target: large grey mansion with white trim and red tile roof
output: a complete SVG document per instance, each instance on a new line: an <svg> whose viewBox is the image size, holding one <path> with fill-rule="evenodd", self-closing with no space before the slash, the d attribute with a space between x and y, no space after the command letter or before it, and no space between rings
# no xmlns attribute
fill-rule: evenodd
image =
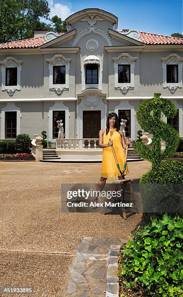
<svg viewBox="0 0 183 297"><path fill-rule="evenodd" d="M36 31L34 38L0 44L0 139L47 132L58 138L98 138L106 115L126 119L135 140L136 109L161 93L178 108L173 120L183 137L183 38L118 31L118 19L84 9L66 19L67 33Z"/></svg>

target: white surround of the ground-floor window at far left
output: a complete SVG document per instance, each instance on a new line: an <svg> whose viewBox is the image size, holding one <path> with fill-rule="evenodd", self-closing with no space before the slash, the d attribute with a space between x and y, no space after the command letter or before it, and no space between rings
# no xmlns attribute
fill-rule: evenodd
<svg viewBox="0 0 183 297"><path fill-rule="evenodd" d="M1 110L1 139L5 139L5 112L17 112L17 135L20 134L20 108L15 105L15 103L7 103L5 107ZM13 138L12 138L13 139Z"/></svg>

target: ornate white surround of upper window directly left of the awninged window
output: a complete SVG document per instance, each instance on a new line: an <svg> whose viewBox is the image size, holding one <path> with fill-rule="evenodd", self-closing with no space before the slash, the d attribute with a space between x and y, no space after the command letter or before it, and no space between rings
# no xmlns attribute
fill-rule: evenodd
<svg viewBox="0 0 183 297"><path fill-rule="evenodd" d="M47 59L49 63L49 88L56 92L57 95L61 95L65 89L69 89L69 68L71 59L67 59L63 55L55 55L51 59ZM53 66L66 66L66 83L54 84L53 83Z"/></svg>

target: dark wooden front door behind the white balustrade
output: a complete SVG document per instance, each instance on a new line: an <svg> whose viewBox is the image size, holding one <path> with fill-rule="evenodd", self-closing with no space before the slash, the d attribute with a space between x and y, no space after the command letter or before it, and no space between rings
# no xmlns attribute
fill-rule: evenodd
<svg viewBox="0 0 183 297"><path fill-rule="evenodd" d="M100 129L101 111L83 111L83 138L99 138ZM85 143L85 147L87 146L87 143ZM90 143L90 145L93 147L94 142Z"/></svg>

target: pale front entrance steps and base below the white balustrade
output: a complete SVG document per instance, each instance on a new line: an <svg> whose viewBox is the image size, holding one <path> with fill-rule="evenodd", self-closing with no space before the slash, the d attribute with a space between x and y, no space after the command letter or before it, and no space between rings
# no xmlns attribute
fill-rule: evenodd
<svg viewBox="0 0 183 297"><path fill-rule="evenodd" d="M43 160L40 162L101 162L102 149L43 149ZM128 149L127 162L143 161L135 154L134 148Z"/></svg>

